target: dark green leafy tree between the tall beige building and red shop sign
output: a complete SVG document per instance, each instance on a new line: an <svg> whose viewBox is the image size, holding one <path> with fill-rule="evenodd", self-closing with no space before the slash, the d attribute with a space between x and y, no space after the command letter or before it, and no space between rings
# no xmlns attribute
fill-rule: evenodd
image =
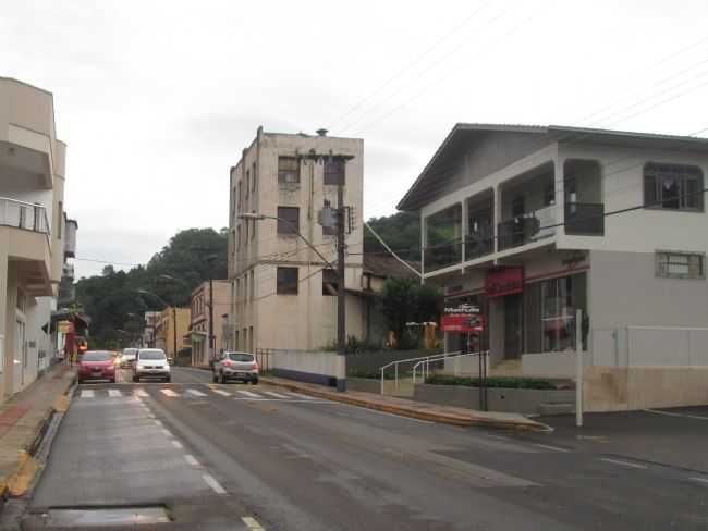
<svg viewBox="0 0 708 531"><path fill-rule="evenodd" d="M410 348L416 343L406 323L438 321L442 300L439 288L422 286L412 279L386 281L379 305L399 348Z"/></svg>

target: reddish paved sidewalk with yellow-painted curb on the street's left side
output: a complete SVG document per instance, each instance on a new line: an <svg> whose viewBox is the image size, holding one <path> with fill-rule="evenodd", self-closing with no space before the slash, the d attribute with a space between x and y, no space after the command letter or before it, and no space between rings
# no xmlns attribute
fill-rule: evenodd
<svg viewBox="0 0 708 531"><path fill-rule="evenodd" d="M32 455L54 410L68 406L75 372L59 363L0 406L0 497L19 496L29 485Z"/></svg>

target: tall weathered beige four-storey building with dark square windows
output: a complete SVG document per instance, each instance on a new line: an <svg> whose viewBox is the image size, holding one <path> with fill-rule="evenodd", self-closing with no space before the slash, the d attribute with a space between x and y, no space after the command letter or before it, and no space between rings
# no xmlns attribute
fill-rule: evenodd
<svg viewBox="0 0 708 531"><path fill-rule="evenodd" d="M361 291L363 156L361 139L258 128L230 172L229 329L233 337L225 342L248 351L312 350L334 342L337 273L293 227L333 262L334 231L318 223L318 213L327 203L338 207L338 185L343 183L344 205L351 207L353 220L346 234L345 288ZM245 212L281 220L240 219ZM347 335L366 335L364 308L361 297L346 297Z"/></svg>

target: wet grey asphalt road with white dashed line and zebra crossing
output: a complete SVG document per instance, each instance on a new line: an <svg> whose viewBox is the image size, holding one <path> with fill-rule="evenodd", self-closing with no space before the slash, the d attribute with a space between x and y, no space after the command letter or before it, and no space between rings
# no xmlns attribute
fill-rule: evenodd
<svg viewBox="0 0 708 531"><path fill-rule="evenodd" d="M155 506L171 519L155 529L703 530L707 499L691 470L175 368L171 384L78 386L25 529Z"/></svg>

